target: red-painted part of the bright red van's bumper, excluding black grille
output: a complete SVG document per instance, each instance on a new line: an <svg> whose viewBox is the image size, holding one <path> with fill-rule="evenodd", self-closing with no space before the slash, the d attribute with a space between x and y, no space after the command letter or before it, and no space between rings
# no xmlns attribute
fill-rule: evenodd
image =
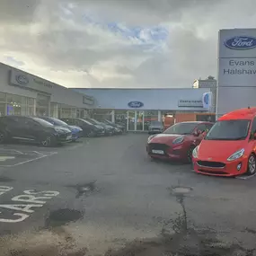
<svg viewBox="0 0 256 256"><path fill-rule="evenodd" d="M224 167L212 167L204 166L199 164L199 159L193 159L194 171L199 174L209 175L209 176L222 176L222 177L234 177L239 176L247 172L247 157L243 157L232 162L225 162ZM240 170L238 166L241 164Z"/></svg>

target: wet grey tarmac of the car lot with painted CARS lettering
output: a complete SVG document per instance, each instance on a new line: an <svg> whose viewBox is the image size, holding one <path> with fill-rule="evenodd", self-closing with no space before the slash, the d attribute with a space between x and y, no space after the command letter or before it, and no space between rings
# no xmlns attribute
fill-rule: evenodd
<svg viewBox="0 0 256 256"><path fill-rule="evenodd" d="M0 255L256 255L256 179L152 161L146 138L0 146Z"/></svg>

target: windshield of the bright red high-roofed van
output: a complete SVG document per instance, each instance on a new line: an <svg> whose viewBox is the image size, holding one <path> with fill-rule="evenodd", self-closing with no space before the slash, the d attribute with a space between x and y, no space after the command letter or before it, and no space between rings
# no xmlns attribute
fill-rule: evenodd
<svg viewBox="0 0 256 256"><path fill-rule="evenodd" d="M217 121L207 133L207 140L239 140L248 135L250 120Z"/></svg>

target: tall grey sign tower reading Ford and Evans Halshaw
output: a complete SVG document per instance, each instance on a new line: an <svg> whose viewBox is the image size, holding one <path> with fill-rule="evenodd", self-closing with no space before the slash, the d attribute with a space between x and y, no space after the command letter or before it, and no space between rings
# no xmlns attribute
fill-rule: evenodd
<svg viewBox="0 0 256 256"><path fill-rule="evenodd" d="M256 93L256 29L219 31L217 81L217 116L256 104L247 90Z"/></svg>

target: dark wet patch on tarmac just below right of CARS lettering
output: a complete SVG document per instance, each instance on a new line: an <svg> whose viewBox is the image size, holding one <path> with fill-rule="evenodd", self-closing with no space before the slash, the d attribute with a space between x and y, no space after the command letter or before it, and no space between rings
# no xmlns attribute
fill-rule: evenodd
<svg viewBox="0 0 256 256"><path fill-rule="evenodd" d="M57 209L49 213L49 217L45 221L45 227L55 227L66 225L67 223L77 221L83 218L84 213L75 209Z"/></svg>

